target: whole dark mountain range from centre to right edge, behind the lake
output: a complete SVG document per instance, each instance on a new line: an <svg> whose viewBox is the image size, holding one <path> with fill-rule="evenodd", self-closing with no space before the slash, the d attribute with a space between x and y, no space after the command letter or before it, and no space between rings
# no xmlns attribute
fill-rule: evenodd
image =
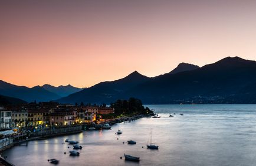
<svg viewBox="0 0 256 166"><path fill-rule="evenodd" d="M57 101L110 103L136 97L145 104L256 103L255 87L256 62L226 57L203 67L181 63L172 72L152 78L133 72Z"/></svg>

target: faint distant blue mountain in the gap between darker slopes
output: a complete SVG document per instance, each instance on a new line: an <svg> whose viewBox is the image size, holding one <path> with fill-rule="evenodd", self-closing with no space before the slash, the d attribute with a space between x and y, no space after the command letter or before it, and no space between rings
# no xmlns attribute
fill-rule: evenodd
<svg viewBox="0 0 256 166"><path fill-rule="evenodd" d="M71 86L70 84L68 84L67 86L61 85L58 87L51 86L50 84L44 84L42 87L44 89L48 90L49 92L58 94L58 96L61 96L61 97L68 96L72 93L76 93L76 92L79 92L84 89L84 88L78 88L78 87Z"/></svg>

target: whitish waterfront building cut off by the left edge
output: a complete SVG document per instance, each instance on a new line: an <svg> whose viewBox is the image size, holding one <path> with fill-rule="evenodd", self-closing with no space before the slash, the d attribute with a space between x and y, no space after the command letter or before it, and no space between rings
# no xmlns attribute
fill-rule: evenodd
<svg viewBox="0 0 256 166"><path fill-rule="evenodd" d="M0 129L11 128L12 124L12 111L0 107Z"/></svg>

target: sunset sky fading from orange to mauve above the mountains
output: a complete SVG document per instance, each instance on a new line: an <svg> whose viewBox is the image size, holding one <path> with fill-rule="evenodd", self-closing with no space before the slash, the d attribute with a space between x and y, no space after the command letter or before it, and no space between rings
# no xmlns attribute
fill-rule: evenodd
<svg viewBox="0 0 256 166"><path fill-rule="evenodd" d="M256 60L256 1L0 1L0 80L90 87Z"/></svg>

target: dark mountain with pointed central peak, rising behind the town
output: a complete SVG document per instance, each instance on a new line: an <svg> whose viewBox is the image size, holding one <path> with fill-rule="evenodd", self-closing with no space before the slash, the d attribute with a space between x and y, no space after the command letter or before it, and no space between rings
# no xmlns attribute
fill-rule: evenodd
<svg viewBox="0 0 256 166"><path fill-rule="evenodd" d="M109 103L116 100L120 93L145 83L147 80L150 78L135 71L123 79L101 82L57 101L60 103L80 103L82 101L84 103Z"/></svg>

